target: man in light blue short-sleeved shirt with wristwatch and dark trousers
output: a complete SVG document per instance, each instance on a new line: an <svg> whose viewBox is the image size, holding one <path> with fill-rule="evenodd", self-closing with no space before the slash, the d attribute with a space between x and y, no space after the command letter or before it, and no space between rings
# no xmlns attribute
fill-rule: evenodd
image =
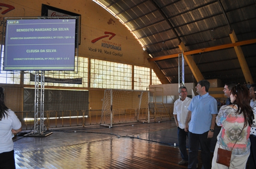
<svg viewBox="0 0 256 169"><path fill-rule="evenodd" d="M210 144L218 111L216 99L208 93L209 87L207 80L199 81L196 86L199 95L192 99L188 108L185 131L189 132L189 169L196 168L199 144L204 169L211 169Z"/></svg>

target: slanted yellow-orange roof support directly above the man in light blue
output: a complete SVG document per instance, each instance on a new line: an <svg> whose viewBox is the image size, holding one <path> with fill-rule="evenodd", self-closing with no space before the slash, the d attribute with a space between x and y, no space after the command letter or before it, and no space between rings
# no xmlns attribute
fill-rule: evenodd
<svg viewBox="0 0 256 169"><path fill-rule="evenodd" d="M180 42L179 44L180 51L187 51L186 46L183 42ZM195 79L197 82L200 80L204 80L204 76L202 75L201 71L198 69L197 65L195 64L195 61L193 60L191 55L185 55L185 52L183 53L184 59L186 59L187 64L189 65L190 70L192 71Z"/></svg>

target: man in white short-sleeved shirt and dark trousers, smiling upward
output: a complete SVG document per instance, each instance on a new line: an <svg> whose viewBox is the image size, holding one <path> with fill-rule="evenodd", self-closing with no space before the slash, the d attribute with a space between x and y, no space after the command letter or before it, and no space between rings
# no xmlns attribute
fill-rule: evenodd
<svg viewBox="0 0 256 169"><path fill-rule="evenodd" d="M180 148L180 155L182 161L179 162L180 165L187 164L189 157L186 150L186 138L188 137L188 132L185 132L185 121L188 113L188 107L192 99L187 97L187 89L185 86L179 87L179 96L180 99L177 99L174 103L173 115L175 123L178 127L178 143Z"/></svg>

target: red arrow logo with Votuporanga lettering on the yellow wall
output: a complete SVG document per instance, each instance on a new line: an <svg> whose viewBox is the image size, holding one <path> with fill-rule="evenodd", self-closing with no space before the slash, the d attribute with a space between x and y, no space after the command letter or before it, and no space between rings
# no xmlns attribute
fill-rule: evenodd
<svg viewBox="0 0 256 169"><path fill-rule="evenodd" d="M100 39L102 39L102 44L101 45L102 45L103 48L109 48L109 49L114 49L114 50L117 50L117 51L122 51L121 44L115 43L115 42L110 42L110 41L107 41L107 40L103 40L103 38L106 38L106 37L109 37L108 40L111 40L113 37L116 36L116 34L114 34L112 32L104 32L104 34L105 34L105 36L93 39L91 42L95 43L95 42L99 41Z"/></svg>

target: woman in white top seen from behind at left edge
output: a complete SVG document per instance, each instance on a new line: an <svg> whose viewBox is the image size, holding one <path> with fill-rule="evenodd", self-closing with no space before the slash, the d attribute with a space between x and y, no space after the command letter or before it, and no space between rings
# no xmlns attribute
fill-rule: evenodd
<svg viewBox="0 0 256 169"><path fill-rule="evenodd" d="M15 169L13 134L20 132L21 123L4 103L4 89L0 87L0 169Z"/></svg>

